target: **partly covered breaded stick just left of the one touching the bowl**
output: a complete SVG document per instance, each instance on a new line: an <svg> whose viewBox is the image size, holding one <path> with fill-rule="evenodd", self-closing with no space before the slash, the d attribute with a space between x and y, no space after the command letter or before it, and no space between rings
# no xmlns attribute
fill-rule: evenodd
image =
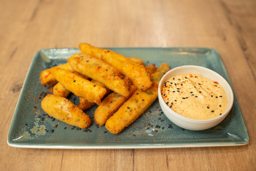
<svg viewBox="0 0 256 171"><path fill-rule="evenodd" d="M104 125L108 118L112 116L119 108L128 100L136 87L134 85L130 86L129 96L122 96L116 92L110 93L97 107L94 112L94 121L99 125Z"/></svg>

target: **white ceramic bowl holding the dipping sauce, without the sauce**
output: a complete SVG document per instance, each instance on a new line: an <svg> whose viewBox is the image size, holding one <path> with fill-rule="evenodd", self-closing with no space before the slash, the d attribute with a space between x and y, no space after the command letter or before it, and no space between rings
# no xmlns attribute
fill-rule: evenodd
<svg viewBox="0 0 256 171"><path fill-rule="evenodd" d="M164 102L163 97L161 95L161 90L163 87L163 84L170 79L171 77L179 74L186 74L186 73L196 73L200 74L204 77L210 78L211 80L217 81L225 90L227 97L228 97L228 107L227 110L220 116L212 119L205 119L205 120L199 120L199 119L191 119L184 117L176 112L174 112L168 105ZM158 85L158 99L160 106L164 112L164 114L167 116L168 119L170 119L174 124L189 130L205 130L212 128L216 125L218 125L221 121L223 121L228 113L230 112L233 101L234 101L234 95L233 91L228 84L228 82L218 73L216 73L213 70L210 70L205 67L201 66L195 66L195 65L184 65L179 66L177 68L173 68L170 71L168 71L160 80Z"/></svg>

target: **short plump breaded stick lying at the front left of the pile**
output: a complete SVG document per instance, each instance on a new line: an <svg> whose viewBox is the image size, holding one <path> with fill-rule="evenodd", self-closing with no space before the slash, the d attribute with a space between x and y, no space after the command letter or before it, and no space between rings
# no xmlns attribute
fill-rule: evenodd
<svg viewBox="0 0 256 171"><path fill-rule="evenodd" d="M47 95L41 102L42 109L49 115L79 128L91 125L91 119L81 109L64 97Z"/></svg>

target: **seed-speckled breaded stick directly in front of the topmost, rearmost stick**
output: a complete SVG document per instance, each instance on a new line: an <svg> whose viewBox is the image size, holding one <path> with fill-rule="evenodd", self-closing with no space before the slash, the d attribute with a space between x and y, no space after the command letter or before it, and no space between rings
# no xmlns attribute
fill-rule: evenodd
<svg viewBox="0 0 256 171"><path fill-rule="evenodd" d="M102 60L77 53L68 59L68 63L75 71L103 83L114 92L123 96L129 95L128 78Z"/></svg>

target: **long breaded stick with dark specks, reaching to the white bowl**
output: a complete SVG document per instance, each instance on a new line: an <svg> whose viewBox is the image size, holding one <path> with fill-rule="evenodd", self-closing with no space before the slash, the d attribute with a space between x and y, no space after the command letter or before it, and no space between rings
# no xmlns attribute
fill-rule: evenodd
<svg viewBox="0 0 256 171"><path fill-rule="evenodd" d="M107 120L105 127L109 132L112 134L121 132L154 103L158 97L158 83L168 70L170 70L169 66L162 64L160 68L151 75L152 86L145 91L136 90L131 98Z"/></svg>

